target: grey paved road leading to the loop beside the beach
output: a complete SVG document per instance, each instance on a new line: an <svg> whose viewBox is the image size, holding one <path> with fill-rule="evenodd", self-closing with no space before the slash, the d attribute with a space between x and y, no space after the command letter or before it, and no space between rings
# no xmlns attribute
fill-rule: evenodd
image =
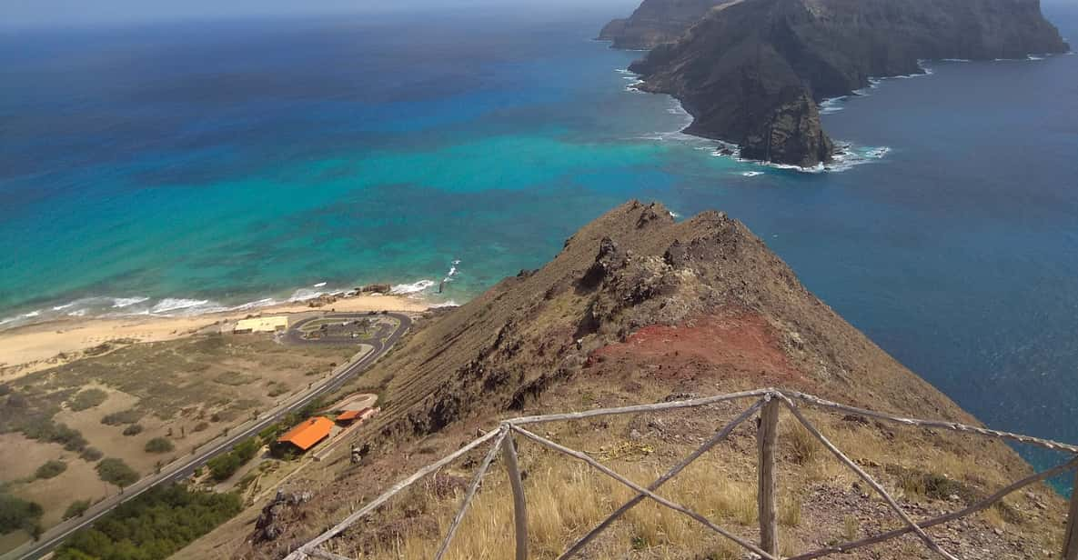
<svg viewBox="0 0 1078 560"><path fill-rule="evenodd" d="M359 319L361 317L370 317L367 313L326 313L324 317L330 317L333 319ZM189 456L188 458L180 459L177 462L165 466L161 474L152 475L142 478L138 482L124 489L123 494L118 494L109 496L102 502L91 507L85 515L82 517L77 517L68 521L64 521L60 524L50 529L37 543L27 543L18 548L0 556L2 560L13 560L13 559L37 559L45 556L54 548L60 545L71 533L88 527L91 523L96 521L98 518L108 514L118 505L127 502L128 500L135 499L135 496L146 492L147 490L161 485L180 480L186 478L194 473L195 468L204 465L206 461L209 461L213 457L231 450L236 444L251 437L262 430L264 430L270 424L276 422L280 418L285 417L289 412L299 410L303 408L307 403L322 396L327 393L331 393L341 388L346 381L351 379L356 374L367 369L371 364L382 358L387 350L392 348L395 344L404 333L407 332L412 326L412 319L402 313L386 313L379 317L392 317L397 319L399 325L391 333L385 333L389 331L390 326L379 327L378 333L369 340L362 340L363 344L374 347L371 352L364 353L358 360L349 362L336 370L333 372L328 379L322 381L320 384L315 386L309 391L304 394L293 397L291 401L280 405L279 407L265 412L264 415L258 417L253 421L248 421L237 428L232 429L229 435L219 437L212 442L205 444L198 451L197 454ZM295 332L296 326L302 326L303 323L314 320L317 318L306 319L298 322L292 326L286 334L286 336L291 337L291 334ZM385 336L382 336L385 335ZM300 338L296 335L296 338ZM300 338L302 344L316 344L310 340L305 340ZM334 342L329 342L334 344ZM355 341L353 341L355 344Z"/></svg>

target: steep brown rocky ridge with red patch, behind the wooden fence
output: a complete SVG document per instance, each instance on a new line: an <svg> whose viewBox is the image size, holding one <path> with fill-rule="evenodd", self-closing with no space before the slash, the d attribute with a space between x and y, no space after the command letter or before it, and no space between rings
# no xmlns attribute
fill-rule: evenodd
<svg viewBox="0 0 1078 560"><path fill-rule="evenodd" d="M661 205L637 201L583 227L539 270L522 271L431 319L358 383L384 395L383 412L364 425L357 440L367 453L363 464L349 464L346 453L315 463L290 481L296 491L317 489L315 499L274 506L266 509L272 518L259 522L260 528L275 527L272 537L237 523L204 549L236 558L279 558L357 503L509 415L782 387L877 410L976 422L813 296L742 223L718 212L675 222ZM734 412L730 405L543 430L642 478L687 453ZM924 515L969 503L1028 472L1000 444L902 431L859 417L819 421L875 476L906 489L908 507L921 508ZM751 510L745 500L755 499L754 431L752 425L740 430L721 453L708 459L708 471L695 475L699 484L686 487L696 488L695 499L748 532L751 517L736 512ZM888 527L885 507L852 484L848 473L828 466L826 453L812 450L796 431L784 431L782 440L788 468L784 492L796 504L796 515L789 515L784 529L791 546L839 538L833 535L851 532L852 518L866 531ZM357 526L335 540L334 551L373 555L364 558L430 557L430 547L453 514L454 492L478 459L466 460L465 471L445 471L402 496L399 505ZM565 460L534 448L522 460L531 495L561 496L530 506L534 522L540 523L536 538L549 548L543 555L564 547L582 526L597 521L623 499L598 479L565 471L571 466ZM484 482L485 495L503 489L497 475ZM502 552L511 550L507 514L498 509L505 501L490 500L476 506L478 520L472 522L480 524L462 531L466 548L456 558L503 558ZM558 505L564 501L594 508L569 516L571 508ZM743 506L715 509L720 502ZM1013 524L1007 526L1007 533L993 530L996 521L977 519L943 528L940 534L955 550L989 551L992 558L1028 558L1029 550L1054 548L1064 509L1058 496L1038 488L1008 507L1007 522ZM637 533L612 533L597 545L603 552L588 557L609 558L625 547L644 550L637 544L645 542L659 548L634 558L728 558L715 552L720 545L711 537L675 531L668 524L673 521L647 517L646 512L621 530ZM639 536L651 534L649 528L658 531L655 523L666 523L661 535ZM866 551L872 556L853 558L915 558L910 549L916 545L876 548Z"/></svg>

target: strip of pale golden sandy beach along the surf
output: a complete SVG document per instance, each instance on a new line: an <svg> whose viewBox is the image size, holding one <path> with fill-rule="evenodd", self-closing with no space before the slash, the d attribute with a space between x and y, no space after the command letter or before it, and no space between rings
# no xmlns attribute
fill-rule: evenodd
<svg viewBox="0 0 1078 560"><path fill-rule="evenodd" d="M224 311L189 317L133 316L115 319L65 319L0 331L0 381L60 365L87 355L105 342L156 342L191 336L215 324L246 317L267 317L310 311L421 312L429 304L393 295L357 295L309 307L304 302L258 310ZM114 346L114 345L113 345Z"/></svg>

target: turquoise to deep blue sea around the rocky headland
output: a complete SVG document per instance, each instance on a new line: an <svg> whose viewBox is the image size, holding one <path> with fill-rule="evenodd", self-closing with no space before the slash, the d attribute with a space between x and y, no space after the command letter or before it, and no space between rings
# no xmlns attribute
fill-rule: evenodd
<svg viewBox="0 0 1078 560"><path fill-rule="evenodd" d="M744 221L990 425L1078 442L1078 56L927 62L828 111L861 165L784 171L626 89L640 53L591 38L632 3L0 31L0 328L460 303L659 199Z"/></svg>

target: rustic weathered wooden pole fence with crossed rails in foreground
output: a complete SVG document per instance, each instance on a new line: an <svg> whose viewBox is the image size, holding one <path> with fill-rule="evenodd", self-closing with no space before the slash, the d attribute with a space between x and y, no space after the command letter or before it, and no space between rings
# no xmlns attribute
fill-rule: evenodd
<svg viewBox="0 0 1078 560"><path fill-rule="evenodd" d="M700 406L706 406L715 403L737 401L737 400L754 400L752 404L735 417L728 424L722 426L718 432L715 433L708 440L704 442L703 445L693 450L688 457L686 457L681 462L672 467L669 471L664 473L653 482L647 487L641 487L632 480L625 478L624 476L616 473L606 465L599 463L595 459L591 458L586 453L581 451L570 449L568 447L562 446L554 443L545 437L537 435L528 431L525 426L530 424L540 424L545 422L565 421L565 420L580 420L584 418L595 418L602 416L614 416L614 415L628 415L637 412L655 412L662 410L675 410L680 408L693 408ZM931 428L939 430L950 430L953 432L976 435L992 439L1004 439L1008 442L1015 442L1025 445L1032 445L1040 447L1044 449L1050 449L1053 451L1062 451L1069 454L1069 458L1062 464L1048 468L1046 471L1035 473L1021 480L1014 481L1011 485L1001 488L996 493L979 501L973 504L968 505L964 509L952 512L950 514L941 515L931 519L924 519L921 521L915 521L913 518L899 506L898 502L887 492L887 490L880 485L869 473L865 472L860 466L857 465L853 460L846 457L830 439L827 438L801 411L802 406L810 406L816 408L823 408L825 410L843 412L843 414L854 414L868 418L874 418L877 420L895 422L903 425L918 426L918 428ZM715 533L736 543L742 548L755 554L757 557L764 560L780 560L784 559L778 551L778 523L776 521L775 514L775 503L776 503L776 481L775 481L775 448L778 438L778 417L782 409L788 410L797 421L808 431L812 436L818 440L831 454L833 454L843 465L853 471L861 480L863 480L869 487L871 487L880 498L887 503L888 507L894 512L894 514L903 522L904 527L900 529L895 529L876 535L872 535L859 541L851 541L846 543L841 543L837 545L830 545L818 550L812 550L808 552L799 554L793 557L785 557L785 560L812 560L815 558L821 558L830 555L848 552L851 550L870 546L873 544L883 543L890 541L893 538L898 538L908 533L915 534L921 542L937 556L945 558L949 560L957 560L957 557L953 554L944 550L939 543L937 543L925 530L953 521L955 519L960 519L978 512L981 512L992 505L996 504L1004 496L1021 490L1029 485L1047 480L1054 476L1059 476L1068 471L1078 470L1078 446L1073 446L1068 444L1063 444L1060 442L1053 442L1051 439L1044 439L1039 437L1026 436L1021 434L1013 434L1010 432L1000 432L996 430L989 430L984 428L978 428L972 425L960 424L956 422L945 422L939 420L920 420L914 418L903 418L894 415L887 415L883 412L877 412L874 410L868 410L863 408L858 408L854 406L843 405L840 403L833 403L831 401L826 401L817 396L799 393L797 391L780 391L777 389L760 389L756 391L744 391L740 393L730 393L723 395L715 395L704 398L693 398L689 401L676 401L671 403L655 403L647 405L634 405L624 406L618 408L602 408L595 410L585 410L581 412L567 412L567 414L556 414L556 415L543 415L543 416L528 416L521 418L513 418L502 421L497 430L493 430L481 437L468 443L462 446L457 451L446 456L445 458L431 463L419 471L417 471L412 476L405 478L393 485L389 490L387 490L382 495L375 498L365 506L360 508L358 512L349 515L340 523L334 526L329 531L318 535L314 540L307 542L303 546L295 549L290 554L286 560L306 560L308 558L326 559L326 560L346 560L347 557L337 555L326 550L323 545L330 540L338 536L350 526L362 519L364 516L371 514L383 504L385 504L389 499L391 499L397 493L401 492L405 488L409 488L421 478L434 473L441 467L450 464L451 462L459 459L464 454L476 449L489 442L489 449L480 463L479 468L473 475L467 491L460 503L460 508L457 510L456 516L453 518L453 522L450 524L448 530L438 548L438 552L434 556L434 560L442 560L446 552L450 550L450 545L453 542L453 537L456 535L457 530L460 527L460 522L464 520L465 515L468 513L468 508L471 505L472 499L475 496L475 492L483 481L483 477L486 475L490 465L494 463L495 458L500 452L503 458L507 473L509 475L510 488L513 493L513 518L514 518L514 534L515 534L515 559L516 560L527 560L528 558L528 528L527 528L527 501L524 492L524 486L521 482L521 473L517 465L517 454L515 438L517 436L528 439L537 445L552 449L559 453L563 453L569 458L581 461L591 467L599 471L600 473L609 476L613 480L622 484L634 492L636 495L621 505L618 509L611 513L606 519L599 522L594 529L585 533L583 536L578 538L564 554L558 557L558 560L568 560L575 557L581 550L588 546L596 536L598 536L603 531L608 529L616 520L623 516L626 512L632 509L634 506L642 502L644 500L652 500L653 502L668 507L675 512L678 512L689 518L695 520L705 528L714 531ZM700 459L708 450L714 448L719 443L723 442L738 425L743 424L748 419L752 418L759 414L759 430L757 431L757 443L758 443L758 495L757 505L759 508L759 522L760 522L760 541L759 544L749 542L744 537L737 536L736 534L715 524L713 521L707 519L705 516L689 509L688 507L673 502L668 499L663 498L655 493L664 484L680 474L686 467L692 464L693 461ZM1078 486L1078 485L1076 485ZM1064 534L1064 543L1061 558L1063 560L1078 560L1078 488L1072 493L1070 507L1066 521L1066 532Z"/></svg>

